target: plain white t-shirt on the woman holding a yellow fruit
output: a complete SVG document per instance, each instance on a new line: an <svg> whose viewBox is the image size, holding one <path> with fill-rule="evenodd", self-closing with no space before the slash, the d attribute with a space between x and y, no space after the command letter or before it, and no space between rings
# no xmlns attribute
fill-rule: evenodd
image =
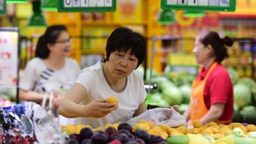
<svg viewBox="0 0 256 144"><path fill-rule="evenodd" d="M139 70L134 70L127 77L126 86L123 91L115 91L106 81L103 74L102 63L84 68L75 83L82 84L88 93L81 105L95 99L106 99L110 95L114 95L118 99L118 109L112 111L103 118L77 117L75 124L89 124L92 127L104 126L107 123L126 122L132 118L135 110L139 108L140 103L146 99L146 90L143 84L142 75ZM86 113L86 109L84 109Z"/></svg>

